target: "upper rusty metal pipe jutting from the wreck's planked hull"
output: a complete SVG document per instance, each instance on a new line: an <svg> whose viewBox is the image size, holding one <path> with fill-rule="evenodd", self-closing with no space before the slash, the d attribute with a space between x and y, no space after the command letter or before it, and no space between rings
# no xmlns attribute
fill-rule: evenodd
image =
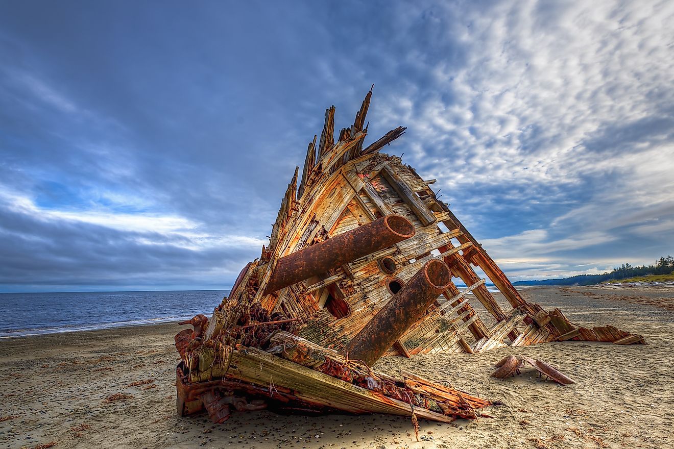
<svg viewBox="0 0 674 449"><path fill-rule="evenodd" d="M408 219L396 214L386 215L278 259L264 294L326 273L414 235L415 227Z"/></svg>

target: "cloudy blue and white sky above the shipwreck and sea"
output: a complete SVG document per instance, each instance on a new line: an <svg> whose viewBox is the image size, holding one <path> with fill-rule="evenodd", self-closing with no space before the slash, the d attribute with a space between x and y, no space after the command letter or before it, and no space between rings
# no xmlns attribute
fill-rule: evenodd
<svg viewBox="0 0 674 449"><path fill-rule="evenodd" d="M226 289L334 104L511 280L674 254L674 2L4 1L0 291Z"/></svg>

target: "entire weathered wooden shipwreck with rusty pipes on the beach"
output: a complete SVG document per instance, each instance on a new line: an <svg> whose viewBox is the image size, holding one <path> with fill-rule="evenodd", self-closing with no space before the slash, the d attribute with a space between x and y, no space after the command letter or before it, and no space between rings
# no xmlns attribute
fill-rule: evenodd
<svg viewBox="0 0 674 449"><path fill-rule="evenodd" d="M182 323L193 329L175 337L179 415L206 409L222 422L235 410L270 409L470 419L494 403L371 366L383 356L479 354L551 341L644 343L613 326L578 326L559 309L524 300L439 201L435 180L381 153L405 128L364 145L371 96L336 140L335 108L326 110L268 246L210 319Z"/></svg>

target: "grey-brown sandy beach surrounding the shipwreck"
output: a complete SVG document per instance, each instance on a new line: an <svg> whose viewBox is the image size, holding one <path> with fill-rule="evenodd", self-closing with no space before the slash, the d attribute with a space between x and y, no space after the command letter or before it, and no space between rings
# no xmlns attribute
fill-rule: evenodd
<svg viewBox="0 0 674 449"><path fill-rule="evenodd" d="M528 300L570 320L644 335L628 347L564 342L483 355L387 357L401 368L505 403L492 418L452 425L383 415L235 413L222 425L175 415L177 324L0 340L0 448L671 448L674 287L524 287ZM501 298L502 300L502 298ZM558 386L531 370L489 378L518 353L578 383ZM53 446L49 446L53 444Z"/></svg>

